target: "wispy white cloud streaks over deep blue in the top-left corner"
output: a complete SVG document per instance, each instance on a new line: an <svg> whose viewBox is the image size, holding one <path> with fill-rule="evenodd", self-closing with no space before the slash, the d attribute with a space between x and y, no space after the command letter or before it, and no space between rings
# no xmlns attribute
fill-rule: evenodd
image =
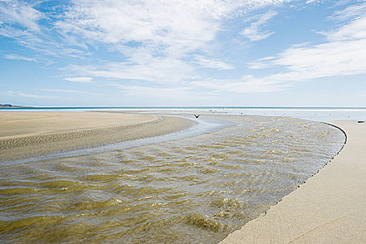
<svg viewBox="0 0 366 244"><path fill-rule="evenodd" d="M51 59L85 59L89 55L83 42L69 37L63 39L54 31L53 18L36 9L43 1L0 1L0 36L11 38L36 53L40 63ZM48 7L47 7L48 8ZM56 12L55 12L56 13ZM45 24L47 22L47 24Z"/></svg>

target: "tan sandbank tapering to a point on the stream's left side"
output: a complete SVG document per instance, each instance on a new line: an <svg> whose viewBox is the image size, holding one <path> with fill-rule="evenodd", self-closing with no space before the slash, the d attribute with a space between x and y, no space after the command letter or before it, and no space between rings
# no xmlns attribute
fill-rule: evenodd
<svg viewBox="0 0 366 244"><path fill-rule="evenodd" d="M0 162L155 137L194 123L148 114L0 112Z"/></svg>

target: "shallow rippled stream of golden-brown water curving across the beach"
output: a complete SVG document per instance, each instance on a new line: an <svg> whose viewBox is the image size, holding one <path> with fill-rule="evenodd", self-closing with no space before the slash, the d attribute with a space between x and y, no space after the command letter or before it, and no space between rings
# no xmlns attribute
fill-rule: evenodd
<svg viewBox="0 0 366 244"><path fill-rule="evenodd" d="M323 123L218 119L231 125L147 146L1 163L1 241L218 243L344 143Z"/></svg>

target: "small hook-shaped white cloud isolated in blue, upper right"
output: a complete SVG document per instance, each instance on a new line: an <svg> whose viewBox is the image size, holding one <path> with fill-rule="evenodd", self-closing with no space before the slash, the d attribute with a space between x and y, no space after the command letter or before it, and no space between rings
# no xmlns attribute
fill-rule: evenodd
<svg viewBox="0 0 366 244"><path fill-rule="evenodd" d="M264 13L263 15L259 15L258 20L256 22L252 22L249 27L245 28L241 35L245 38L248 38L250 41L263 40L268 38L269 36L275 33L274 31L261 31L264 25L268 23L270 19L272 19L275 15L277 15L276 11L269 11Z"/></svg>

